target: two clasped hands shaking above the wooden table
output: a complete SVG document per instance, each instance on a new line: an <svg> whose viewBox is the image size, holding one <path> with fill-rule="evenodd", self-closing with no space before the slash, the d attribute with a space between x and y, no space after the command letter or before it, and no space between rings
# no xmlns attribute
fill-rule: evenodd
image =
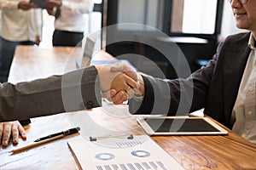
<svg viewBox="0 0 256 170"><path fill-rule="evenodd" d="M102 98L113 104L122 104L134 95L144 95L143 77L129 65L98 65L96 69L101 82Z"/></svg>

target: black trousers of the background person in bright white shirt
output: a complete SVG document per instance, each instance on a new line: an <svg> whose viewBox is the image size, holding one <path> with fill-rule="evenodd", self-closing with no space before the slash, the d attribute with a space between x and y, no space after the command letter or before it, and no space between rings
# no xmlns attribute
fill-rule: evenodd
<svg viewBox="0 0 256 170"><path fill-rule="evenodd" d="M84 32L55 30L52 37L53 46L82 47Z"/></svg>

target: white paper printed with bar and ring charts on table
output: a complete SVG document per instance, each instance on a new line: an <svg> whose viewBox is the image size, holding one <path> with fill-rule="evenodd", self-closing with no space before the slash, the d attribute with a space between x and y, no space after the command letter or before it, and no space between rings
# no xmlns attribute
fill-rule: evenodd
<svg viewBox="0 0 256 170"><path fill-rule="evenodd" d="M170 170L183 169L147 135L127 138L86 139L68 142L82 169Z"/></svg>

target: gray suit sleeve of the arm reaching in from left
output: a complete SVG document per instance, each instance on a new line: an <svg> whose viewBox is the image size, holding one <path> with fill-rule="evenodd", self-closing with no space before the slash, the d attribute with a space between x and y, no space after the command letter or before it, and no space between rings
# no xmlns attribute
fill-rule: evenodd
<svg viewBox="0 0 256 170"><path fill-rule="evenodd" d="M32 82L0 84L0 122L81 111L101 105L94 66Z"/></svg>

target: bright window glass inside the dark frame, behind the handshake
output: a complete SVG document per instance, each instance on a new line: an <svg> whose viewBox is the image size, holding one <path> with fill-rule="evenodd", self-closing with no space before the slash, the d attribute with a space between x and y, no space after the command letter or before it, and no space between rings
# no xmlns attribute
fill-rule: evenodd
<svg viewBox="0 0 256 170"><path fill-rule="evenodd" d="M213 34L218 0L173 0L171 32Z"/></svg>

